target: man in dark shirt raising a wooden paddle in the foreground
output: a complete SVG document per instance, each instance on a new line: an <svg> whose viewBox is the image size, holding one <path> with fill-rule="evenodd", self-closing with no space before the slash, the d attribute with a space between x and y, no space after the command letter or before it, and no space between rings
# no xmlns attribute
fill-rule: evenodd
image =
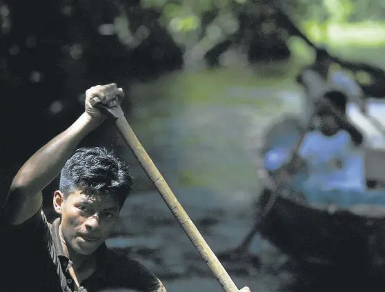
<svg viewBox="0 0 385 292"><path fill-rule="evenodd" d="M132 186L128 165L103 148L75 151L106 119L92 104L123 115L123 96L116 84L87 90L84 113L14 177L0 221L0 291L166 291L139 262L105 244ZM60 217L51 225L41 212L41 191L59 173L53 204Z"/></svg>

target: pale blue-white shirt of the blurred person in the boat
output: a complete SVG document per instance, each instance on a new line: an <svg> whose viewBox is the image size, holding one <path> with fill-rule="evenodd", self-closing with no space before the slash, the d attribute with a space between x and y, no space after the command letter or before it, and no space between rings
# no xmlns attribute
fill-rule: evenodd
<svg viewBox="0 0 385 292"><path fill-rule="evenodd" d="M364 158L353 149L346 130L330 137L319 130L307 133L299 155L308 165L309 176L305 182L308 187L324 191L364 190Z"/></svg>

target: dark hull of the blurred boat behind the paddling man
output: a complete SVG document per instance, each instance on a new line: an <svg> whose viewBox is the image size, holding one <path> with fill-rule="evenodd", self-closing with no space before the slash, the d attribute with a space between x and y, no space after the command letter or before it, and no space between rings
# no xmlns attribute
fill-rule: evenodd
<svg viewBox="0 0 385 292"><path fill-rule="evenodd" d="M271 193L265 192L264 207ZM264 217L260 232L284 253L297 260L338 264L362 257L373 264L385 246L385 209L378 206L352 208L315 207L278 195ZM385 253L384 253L385 255Z"/></svg>

